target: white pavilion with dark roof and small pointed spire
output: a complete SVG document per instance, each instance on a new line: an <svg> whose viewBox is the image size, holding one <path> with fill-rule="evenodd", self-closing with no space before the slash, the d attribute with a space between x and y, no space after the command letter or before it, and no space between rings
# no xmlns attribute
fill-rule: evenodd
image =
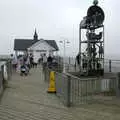
<svg viewBox="0 0 120 120"><path fill-rule="evenodd" d="M39 59L42 54L46 55L54 54L59 50L55 40L38 39L37 32L35 30L33 39L15 39L14 50L16 55L32 53L35 59Z"/></svg>

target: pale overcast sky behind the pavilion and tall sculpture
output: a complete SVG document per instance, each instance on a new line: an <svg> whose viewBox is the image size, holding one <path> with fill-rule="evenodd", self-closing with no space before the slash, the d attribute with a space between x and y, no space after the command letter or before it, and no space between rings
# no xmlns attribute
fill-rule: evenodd
<svg viewBox="0 0 120 120"><path fill-rule="evenodd" d="M93 0L0 0L0 54L13 52L15 38L67 39L67 54L78 52L78 28ZM120 55L120 1L99 0L104 9L105 53ZM63 49L62 49L63 50ZM60 54L63 51L60 51Z"/></svg>

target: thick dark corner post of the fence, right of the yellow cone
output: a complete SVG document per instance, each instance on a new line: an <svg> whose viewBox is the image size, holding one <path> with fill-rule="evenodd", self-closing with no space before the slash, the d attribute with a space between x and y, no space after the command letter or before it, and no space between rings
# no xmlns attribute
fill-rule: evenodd
<svg viewBox="0 0 120 120"><path fill-rule="evenodd" d="M71 88L71 77L68 75L67 76L67 107L70 107L71 106L71 90L70 90L70 88Z"/></svg>

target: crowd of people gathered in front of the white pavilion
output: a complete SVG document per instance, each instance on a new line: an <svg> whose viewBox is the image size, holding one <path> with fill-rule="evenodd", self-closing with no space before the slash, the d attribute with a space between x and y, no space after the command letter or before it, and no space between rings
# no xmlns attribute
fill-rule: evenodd
<svg viewBox="0 0 120 120"><path fill-rule="evenodd" d="M54 58L49 55L43 54L38 61L34 59L33 54L19 55L15 56L11 54L13 70L18 71L20 75L28 75L29 70L31 68L36 68L38 64L43 66L43 70L45 67L52 67L52 63L54 62Z"/></svg>

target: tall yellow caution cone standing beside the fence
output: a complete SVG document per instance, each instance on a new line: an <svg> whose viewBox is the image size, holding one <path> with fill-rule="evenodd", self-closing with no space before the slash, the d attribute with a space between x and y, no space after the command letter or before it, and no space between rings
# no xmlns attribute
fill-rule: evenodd
<svg viewBox="0 0 120 120"><path fill-rule="evenodd" d="M56 93L56 88L55 88L55 72L51 71L50 72L50 81L49 81L49 87L48 87L48 93Z"/></svg>

